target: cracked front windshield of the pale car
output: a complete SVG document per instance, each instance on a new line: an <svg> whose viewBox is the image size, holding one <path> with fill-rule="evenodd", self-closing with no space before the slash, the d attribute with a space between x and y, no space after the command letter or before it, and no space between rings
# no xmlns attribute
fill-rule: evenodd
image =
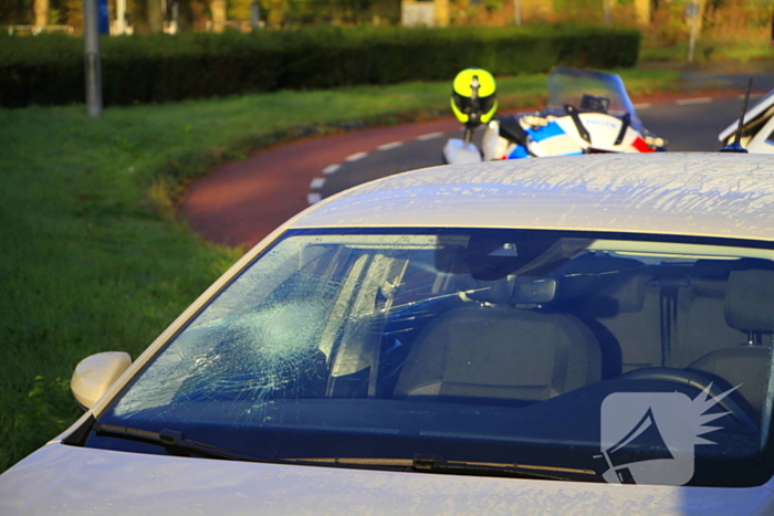
<svg viewBox="0 0 774 516"><path fill-rule="evenodd" d="M773 463L768 248L292 231L100 423L266 461L440 454L596 482L756 485ZM86 445L164 453L98 432Z"/></svg>

